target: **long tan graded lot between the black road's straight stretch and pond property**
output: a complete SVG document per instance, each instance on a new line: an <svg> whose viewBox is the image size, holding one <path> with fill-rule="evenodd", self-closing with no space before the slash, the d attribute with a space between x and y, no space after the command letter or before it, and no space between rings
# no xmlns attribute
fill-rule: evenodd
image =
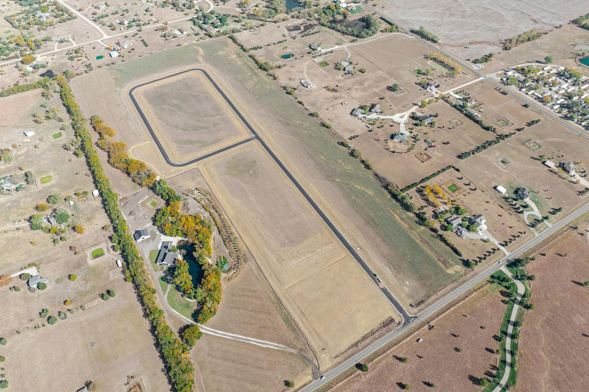
<svg viewBox="0 0 589 392"><path fill-rule="evenodd" d="M321 353L322 368L386 318L399 320L259 144L217 155L201 171L313 351Z"/></svg>

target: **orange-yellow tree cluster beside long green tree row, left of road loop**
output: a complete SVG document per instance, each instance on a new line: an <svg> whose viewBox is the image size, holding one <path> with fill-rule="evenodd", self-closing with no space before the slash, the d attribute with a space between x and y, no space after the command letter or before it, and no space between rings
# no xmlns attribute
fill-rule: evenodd
<svg viewBox="0 0 589 392"><path fill-rule="evenodd" d="M114 129L107 127L104 121L97 115L90 118L90 124L100 136L96 145L108 153L108 163L112 167L126 172L134 182L141 187L150 187L155 182L157 176L153 171L147 168L145 162L130 158L127 154L127 144L124 142L114 142Z"/></svg>

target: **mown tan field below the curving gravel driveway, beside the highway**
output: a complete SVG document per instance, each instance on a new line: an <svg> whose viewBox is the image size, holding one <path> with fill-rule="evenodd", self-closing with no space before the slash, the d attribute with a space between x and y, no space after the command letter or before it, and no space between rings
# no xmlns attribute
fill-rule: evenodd
<svg viewBox="0 0 589 392"><path fill-rule="evenodd" d="M299 356L204 335L192 354L196 388L206 391L280 391L284 380L296 386L311 380L311 369Z"/></svg>

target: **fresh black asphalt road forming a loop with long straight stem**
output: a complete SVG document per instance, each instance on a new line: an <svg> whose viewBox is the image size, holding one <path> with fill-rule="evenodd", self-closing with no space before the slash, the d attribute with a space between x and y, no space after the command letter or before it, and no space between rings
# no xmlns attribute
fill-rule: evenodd
<svg viewBox="0 0 589 392"><path fill-rule="evenodd" d="M233 144L233 145L230 145L230 146L221 148L220 150L213 151L210 154L203 155L202 157L195 158L194 160L191 160L191 161L188 161L188 162L184 162L184 163L178 164L178 163L175 163L175 162L171 161L170 160L170 157L168 157L168 154L167 154L166 150L164 149L164 147L161 144L160 140L157 138L157 135L155 135L155 132L154 132L153 128L151 127L151 124L147 120L147 117L145 117L145 114L143 113L143 110L141 109L141 107L138 104L138 102L135 99L135 97L133 97L133 91L136 88L139 88L139 87L148 85L150 83L154 83L154 82L160 81L162 79L171 78L171 77L174 77L176 75L181 75L181 74L184 74L186 72L192 72L192 71L202 72L204 74L204 76L207 79L209 79L209 82L211 82L211 84L217 90L217 92L219 92L219 94L221 94L221 97L223 97L223 99L227 102L227 104L231 107L231 109L233 109L233 111L235 112L235 114L237 115L237 117L239 117L241 119L241 122L243 122L243 124L247 127L247 129L250 130L250 132L252 132L253 137L252 138L249 138L249 139L242 140L240 142L237 142L236 144ZM313 207L313 210L315 210L315 212L317 212L317 214L319 214L319 216L325 222L325 224L327 225L327 227L329 227L330 230L333 232L333 234L335 234L335 236L337 237L337 239L340 242L342 242L342 244L346 248L346 250L348 250L348 252L353 256L353 258L355 258L355 260L358 262L358 264L360 264L360 266L363 268L363 270L366 272L366 274L368 274L368 276L370 277L370 279L372 279L372 281L374 282L374 284L376 285L376 287L378 287L380 289L380 291L382 291L382 293L385 294L386 298L388 298L388 300L391 301L391 304L393 305L393 307L395 307L396 311L399 314L401 314L401 317L403 318L403 321L406 322L406 321L408 321L412 317L401 306L401 304L399 303L399 301L396 300L396 298L393 296L393 294L391 293L391 291L389 291L388 288L386 288L384 285L379 284L378 280L376 280L375 274L370 269L370 267L368 266L368 264L366 264L366 262L362 259L362 257L360 257L360 255L356 252L356 249L352 245L350 245L350 243L348 242L348 240L346 240L346 238L343 236L343 234L339 230L337 230L337 227L335 227L335 225L333 224L333 222L327 217L327 215L325 215L325 212L323 212L321 210L321 208L319 207L319 205L317 205L317 203L315 202L315 200L313 200L313 198L310 197L310 195L307 193L307 191L305 190L305 188L303 188L302 185L299 184L299 181L297 181L296 178L294 178L294 176L290 173L290 171L284 166L284 164L282 163L282 161L280 161L279 158L276 156L276 154L274 154L274 152L270 149L270 147L268 147L268 145L266 144L266 142L264 142L264 139L262 137L260 137L260 135L256 132L256 129L254 129L252 127L252 125L249 123L249 121L247 121L247 119L243 116L243 114L241 114L241 112L239 111L239 109L237 109L237 107L233 104L233 102L231 102L231 99L229 99L229 97L227 97L227 95L223 92L223 90L219 87L219 85L217 85L217 83L213 80L213 78L210 77L210 75L209 75L209 73L207 71L205 71L204 69L201 69L201 68L192 68L192 69L187 69L186 71L177 72L176 74L169 75L167 77L163 77L163 78L160 78L160 79L155 79L154 81L150 81L150 82L147 82L147 83L144 83L144 84L140 84L140 85L135 86L134 88L132 88L131 91L129 91L129 97L131 98L131 101L133 101L133 105L135 105L135 109L137 109L137 112L141 116L141 119L143 119L143 122L145 124L145 127L147 127L148 131L151 134L151 137L153 137L153 139L155 141L155 145L157 145L157 148L158 148L158 150L160 150L160 153L164 157L164 160L166 160L166 163L168 165L170 165L170 166L173 166L173 167L184 167L184 166L193 164L194 162L198 162L198 161L204 160L206 158L212 157L213 155L219 154L220 152L230 150L230 148L237 147L238 145L244 144L244 143L249 142L249 141L252 141L254 139L256 141L258 141L262 145L262 147L264 148L264 150L266 150L266 152L268 154L270 154L270 157L272 157L272 159L274 160L274 162L276 162L276 164L279 165L280 169L282 169L282 171L284 172L284 174L286 174L286 176L289 178L289 180L292 181L292 183L297 188L297 190L299 190L299 192L303 195L303 197L305 197L305 199L307 200L307 202L309 202L309 204L311 205L311 207Z"/></svg>

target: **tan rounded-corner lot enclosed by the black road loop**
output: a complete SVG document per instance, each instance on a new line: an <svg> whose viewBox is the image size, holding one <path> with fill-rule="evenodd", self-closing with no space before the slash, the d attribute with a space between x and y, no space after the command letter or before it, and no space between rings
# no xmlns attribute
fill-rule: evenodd
<svg viewBox="0 0 589 392"><path fill-rule="evenodd" d="M200 71L137 88L134 96L174 161L188 161L251 136Z"/></svg>

